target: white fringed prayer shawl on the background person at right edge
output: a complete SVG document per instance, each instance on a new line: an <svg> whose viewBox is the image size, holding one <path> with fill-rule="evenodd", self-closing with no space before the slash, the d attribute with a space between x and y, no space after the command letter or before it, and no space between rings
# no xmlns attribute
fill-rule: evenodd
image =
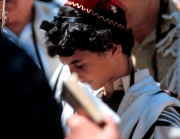
<svg viewBox="0 0 180 139"><path fill-rule="evenodd" d="M177 24L155 47L158 49L157 52L164 57L171 54L177 59L160 83L164 84L169 91L174 91L180 95L180 74L178 74L178 71L180 71L180 12L173 12L170 15L164 14L162 18L166 20L174 18Z"/></svg>

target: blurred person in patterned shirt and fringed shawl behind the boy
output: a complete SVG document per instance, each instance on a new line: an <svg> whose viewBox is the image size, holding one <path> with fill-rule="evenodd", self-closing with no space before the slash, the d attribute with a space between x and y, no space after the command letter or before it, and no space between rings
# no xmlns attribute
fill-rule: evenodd
<svg viewBox="0 0 180 139"><path fill-rule="evenodd" d="M162 89L180 96L180 1L116 1L122 5L127 27L133 31L136 68L148 68Z"/></svg>

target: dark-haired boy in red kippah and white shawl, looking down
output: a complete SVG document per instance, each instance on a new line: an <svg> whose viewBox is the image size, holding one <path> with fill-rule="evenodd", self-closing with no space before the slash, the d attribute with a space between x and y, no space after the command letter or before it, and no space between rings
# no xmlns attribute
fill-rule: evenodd
<svg viewBox="0 0 180 139"><path fill-rule="evenodd" d="M121 17L121 18L120 18ZM180 102L162 91L147 69L131 62L134 45L121 5L115 1L67 1L51 23L44 21L47 49L88 83L121 117L122 138L164 138L180 127ZM66 106L62 117L66 114Z"/></svg>

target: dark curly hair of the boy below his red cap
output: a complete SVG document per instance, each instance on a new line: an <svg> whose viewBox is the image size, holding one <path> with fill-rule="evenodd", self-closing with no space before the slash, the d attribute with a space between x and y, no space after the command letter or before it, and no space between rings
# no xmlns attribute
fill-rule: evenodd
<svg viewBox="0 0 180 139"><path fill-rule="evenodd" d="M131 30L120 29L70 6L61 7L58 15L83 17L87 23L62 21L55 17L46 33L49 56L72 56L75 50L101 53L110 50L113 44L121 44L122 52L130 56L134 45Z"/></svg>

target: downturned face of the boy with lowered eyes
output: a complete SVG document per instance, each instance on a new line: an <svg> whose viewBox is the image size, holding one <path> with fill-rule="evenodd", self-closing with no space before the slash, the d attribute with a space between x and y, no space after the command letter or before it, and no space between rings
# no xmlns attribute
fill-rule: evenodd
<svg viewBox="0 0 180 139"><path fill-rule="evenodd" d="M76 72L82 83L89 84L94 90L112 80L113 58L110 51L103 54L77 50L73 56L60 57L71 73Z"/></svg>

